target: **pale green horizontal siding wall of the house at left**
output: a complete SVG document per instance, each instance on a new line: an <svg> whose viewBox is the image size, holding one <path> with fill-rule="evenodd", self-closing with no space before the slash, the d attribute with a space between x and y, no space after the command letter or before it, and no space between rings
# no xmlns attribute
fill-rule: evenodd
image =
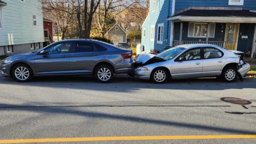
<svg viewBox="0 0 256 144"><path fill-rule="evenodd" d="M24 2L4 0L4 2L7 5L1 6L3 30L0 30L0 46L44 42L41 2L39 0L24 0ZM37 26L33 26L33 14L37 15Z"/></svg>

